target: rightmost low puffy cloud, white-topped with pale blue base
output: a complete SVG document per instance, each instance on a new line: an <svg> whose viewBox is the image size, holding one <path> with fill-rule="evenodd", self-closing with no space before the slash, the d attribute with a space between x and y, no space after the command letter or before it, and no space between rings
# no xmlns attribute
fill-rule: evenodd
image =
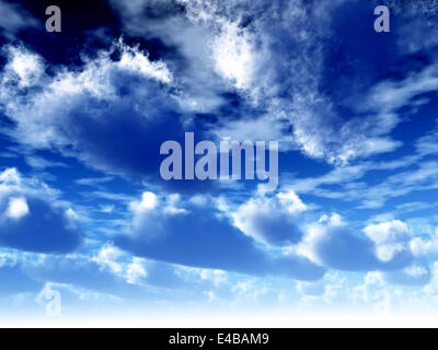
<svg viewBox="0 0 438 350"><path fill-rule="evenodd" d="M324 215L320 222L309 225L302 242L292 250L336 270L395 271L413 261L405 230L403 223L391 222L367 226L364 235L339 215Z"/></svg>

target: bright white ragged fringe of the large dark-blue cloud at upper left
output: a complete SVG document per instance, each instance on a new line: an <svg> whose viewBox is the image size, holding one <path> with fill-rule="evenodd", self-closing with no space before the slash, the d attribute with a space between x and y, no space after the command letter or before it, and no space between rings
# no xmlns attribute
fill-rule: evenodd
<svg viewBox="0 0 438 350"><path fill-rule="evenodd" d="M115 50L120 52L117 61L111 59ZM151 62L146 52L122 40L108 50L99 51L94 60L85 58L81 70L62 68L56 71L54 78L45 74L43 60L36 54L13 46L8 47L8 63L0 72L0 103L4 105L5 114L16 122L16 128L4 131L34 148L56 145L62 149L74 142L69 139L69 132L62 130L62 118L68 118L69 112L83 104L84 98L106 102L119 98L114 74L131 73L163 84L172 83L173 79L162 61ZM20 88L41 89L23 97L16 88L9 86L13 80L19 82ZM145 96L141 98L145 100ZM142 110L146 107L140 106L140 102L137 108L139 113L148 112ZM93 107L88 110L90 115L95 115L95 112Z"/></svg>

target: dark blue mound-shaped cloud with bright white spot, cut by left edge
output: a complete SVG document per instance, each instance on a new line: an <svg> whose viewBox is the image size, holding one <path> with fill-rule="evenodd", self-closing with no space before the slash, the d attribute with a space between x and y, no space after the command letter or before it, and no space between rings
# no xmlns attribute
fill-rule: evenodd
<svg viewBox="0 0 438 350"><path fill-rule="evenodd" d="M77 249L82 234L43 184L32 186L9 168L0 175L0 245L27 252L62 254Z"/></svg>

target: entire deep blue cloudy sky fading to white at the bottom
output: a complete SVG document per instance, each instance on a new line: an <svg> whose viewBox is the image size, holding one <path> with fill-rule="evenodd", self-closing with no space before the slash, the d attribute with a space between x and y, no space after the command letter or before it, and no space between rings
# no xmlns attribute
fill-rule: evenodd
<svg viewBox="0 0 438 350"><path fill-rule="evenodd" d="M0 0L0 319L438 312L438 1L51 2ZM186 132L278 186L164 180Z"/></svg>

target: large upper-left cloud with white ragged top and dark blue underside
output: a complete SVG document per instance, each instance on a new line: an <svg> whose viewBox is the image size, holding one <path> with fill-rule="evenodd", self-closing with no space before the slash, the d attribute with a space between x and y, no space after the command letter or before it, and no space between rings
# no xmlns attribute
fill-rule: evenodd
<svg viewBox="0 0 438 350"><path fill-rule="evenodd" d="M0 100L15 126L2 131L100 170L157 179L161 143L183 138L185 120L169 91L172 74L122 42L97 56L80 70L49 77L35 54L11 47Z"/></svg>

